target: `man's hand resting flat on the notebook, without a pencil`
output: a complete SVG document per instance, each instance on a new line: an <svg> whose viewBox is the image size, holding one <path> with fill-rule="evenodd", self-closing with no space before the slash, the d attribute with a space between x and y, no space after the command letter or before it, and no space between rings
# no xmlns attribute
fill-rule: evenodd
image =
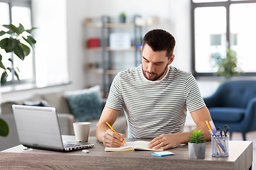
<svg viewBox="0 0 256 170"><path fill-rule="evenodd" d="M181 144L181 133L162 134L149 142L148 147L153 149L169 149Z"/></svg>

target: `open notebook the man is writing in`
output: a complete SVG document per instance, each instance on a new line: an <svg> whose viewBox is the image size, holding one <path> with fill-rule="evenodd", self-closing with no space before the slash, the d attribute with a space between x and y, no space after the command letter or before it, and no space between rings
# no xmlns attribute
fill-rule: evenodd
<svg viewBox="0 0 256 170"><path fill-rule="evenodd" d="M126 142L121 147L105 147L105 151L133 151L135 149L138 150L151 150L151 151L163 151L163 149L149 149L147 145L149 142L138 140L135 142Z"/></svg>

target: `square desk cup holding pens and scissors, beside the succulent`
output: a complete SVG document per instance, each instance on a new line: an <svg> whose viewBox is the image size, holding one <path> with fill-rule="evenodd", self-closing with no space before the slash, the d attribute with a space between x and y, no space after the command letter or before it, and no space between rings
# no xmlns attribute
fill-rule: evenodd
<svg viewBox="0 0 256 170"><path fill-rule="evenodd" d="M213 157L228 157L228 136L211 137L212 156Z"/></svg>

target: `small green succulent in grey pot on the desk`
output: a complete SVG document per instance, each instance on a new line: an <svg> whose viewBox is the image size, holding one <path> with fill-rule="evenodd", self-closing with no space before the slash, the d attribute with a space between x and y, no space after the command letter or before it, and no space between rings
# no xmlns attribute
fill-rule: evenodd
<svg viewBox="0 0 256 170"><path fill-rule="evenodd" d="M188 154L193 159L203 159L206 156L206 140L203 140L202 130L193 130L189 136Z"/></svg>

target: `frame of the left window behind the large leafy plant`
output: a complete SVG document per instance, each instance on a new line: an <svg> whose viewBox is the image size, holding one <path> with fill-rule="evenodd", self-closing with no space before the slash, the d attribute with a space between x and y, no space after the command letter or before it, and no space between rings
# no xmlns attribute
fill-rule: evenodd
<svg viewBox="0 0 256 170"><path fill-rule="evenodd" d="M22 6L22 7L28 7L31 10L31 27L33 27L33 13L32 13L32 0L0 0L0 2L4 2L9 4L9 22L12 23L12 14L11 14L11 8L13 6ZM6 23L8 24L8 23ZM32 70L33 70L33 76L31 79L23 79L23 80L18 80L14 79L15 75L14 72L11 73L12 79L11 81L6 81L5 84L1 84L1 86L11 86L11 85L17 85L17 84L34 84L36 83L36 62L35 62L35 55L33 52L31 52L31 57L32 57ZM14 61L14 53L11 52L11 59ZM12 67L14 67L14 64L11 64ZM19 74L22 74L20 72Z"/></svg>

